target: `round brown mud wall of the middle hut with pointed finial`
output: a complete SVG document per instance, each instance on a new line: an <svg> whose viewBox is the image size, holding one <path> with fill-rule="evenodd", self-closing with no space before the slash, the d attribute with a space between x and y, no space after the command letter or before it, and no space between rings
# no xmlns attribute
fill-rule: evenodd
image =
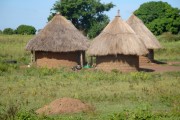
<svg viewBox="0 0 180 120"><path fill-rule="evenodd" d="M97 69L111 71L113 69L129 72L139 69L139 57L135 55L108 55L96 57Z"/></svg>

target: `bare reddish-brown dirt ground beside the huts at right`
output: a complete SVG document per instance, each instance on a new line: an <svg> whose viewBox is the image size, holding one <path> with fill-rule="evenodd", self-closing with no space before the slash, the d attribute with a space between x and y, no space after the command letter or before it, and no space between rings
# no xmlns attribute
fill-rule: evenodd
<svg viewBox="0 0 180 120"><path fill-rule="evenodd" d="M146 72L170 72L180 71L180 62L168 62L168 63L147 63L146 65L140 66L141 71Z"/></svg>

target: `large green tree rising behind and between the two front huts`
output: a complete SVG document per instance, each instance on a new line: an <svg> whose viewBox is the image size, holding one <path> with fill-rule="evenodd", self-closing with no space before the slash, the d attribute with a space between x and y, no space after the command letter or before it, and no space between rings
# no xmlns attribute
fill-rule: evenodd
<svg viewBox="0 0 180 120"><path fill-rule="evenodd" d="M109 22L104 11L113 7L112 3L102 4L100 0L58 0L51 9L48 20L51 20L56 12L60 12L85 35L93 38Z"/></svg>

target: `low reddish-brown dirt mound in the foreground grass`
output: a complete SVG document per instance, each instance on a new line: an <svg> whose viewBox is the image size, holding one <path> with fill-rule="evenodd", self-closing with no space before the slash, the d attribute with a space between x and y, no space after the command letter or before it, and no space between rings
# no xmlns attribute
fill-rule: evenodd
<svg viewBox="0 0 180 120"><path fill-rule="evenodd" d="M68 114L87 112L92 110L92 106L73 98L61 98L51 102L49 105L36 110L38 114L52 115L52 114Z"/></svg>

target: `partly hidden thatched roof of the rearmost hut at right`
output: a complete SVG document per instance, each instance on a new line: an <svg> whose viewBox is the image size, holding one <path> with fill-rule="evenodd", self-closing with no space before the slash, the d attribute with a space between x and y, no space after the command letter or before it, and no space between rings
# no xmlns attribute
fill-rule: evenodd
<svg viewBox="0 0 180 120"><path fill-rule="evenodd" d="M127 20L127 23L136 32L148 49L161 48L159 41L138 17L131 15Z"/></svg>

